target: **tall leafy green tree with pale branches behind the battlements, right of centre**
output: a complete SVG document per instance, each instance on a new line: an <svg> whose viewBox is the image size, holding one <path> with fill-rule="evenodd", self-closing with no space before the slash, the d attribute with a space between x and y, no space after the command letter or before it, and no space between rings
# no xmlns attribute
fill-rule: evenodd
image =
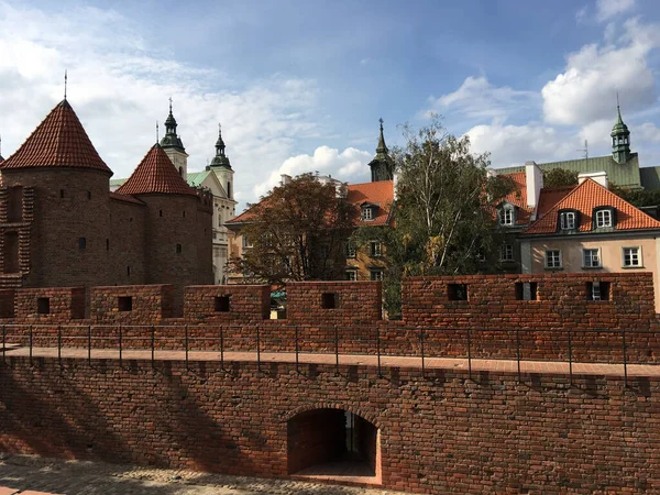
<svg viewBox="0 0 660 495"><path fill-rule="evenodd" d="M405 147L393 151L396 228L363 228L353 235L356 244L378 239L385 245L391 317L400 311L403 276L495 270L502 237L495 206L514 190L506 176L488 174L487 154L472 154L469 138L447 134L437 118L417 133L406 127L405 136Z"/></svg>

